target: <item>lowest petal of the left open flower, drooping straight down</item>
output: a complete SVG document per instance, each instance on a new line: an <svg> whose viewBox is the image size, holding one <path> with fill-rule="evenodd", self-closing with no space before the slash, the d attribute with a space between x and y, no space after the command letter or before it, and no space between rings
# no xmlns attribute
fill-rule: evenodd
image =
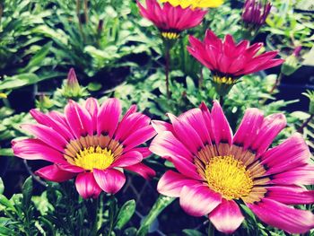
<svg viewBox="0 0 314 236"><path fill-rule="evenodd" d="M96 183L92 172L80 173L75 180L75 187L79 195L83 198L97 198L100 195L101 188Z"/></svg>

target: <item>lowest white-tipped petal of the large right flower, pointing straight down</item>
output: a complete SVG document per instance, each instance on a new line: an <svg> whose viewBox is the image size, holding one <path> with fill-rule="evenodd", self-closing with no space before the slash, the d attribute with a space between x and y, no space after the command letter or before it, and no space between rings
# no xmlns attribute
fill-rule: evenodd
<svg viewBox="0 0 314 236"><path fill-rule="evenodd" d="M209 220L218 231L229 234L239 228L244 216L233 200L222 199L222 203L209 214Z"/></svg>

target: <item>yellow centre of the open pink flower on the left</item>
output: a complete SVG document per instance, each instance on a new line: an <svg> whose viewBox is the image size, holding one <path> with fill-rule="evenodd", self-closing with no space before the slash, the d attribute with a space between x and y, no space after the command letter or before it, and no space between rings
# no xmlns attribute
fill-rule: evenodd
<svg viewBox="0 0 314 236"><path fill-rule="evenodd" d="M102 149L100 146L91 146L84 148L79 153L76 153L74 159L75 165L82 167L85 170L100 169L105 170L114 161L114 156L111 150Z"/></svg>

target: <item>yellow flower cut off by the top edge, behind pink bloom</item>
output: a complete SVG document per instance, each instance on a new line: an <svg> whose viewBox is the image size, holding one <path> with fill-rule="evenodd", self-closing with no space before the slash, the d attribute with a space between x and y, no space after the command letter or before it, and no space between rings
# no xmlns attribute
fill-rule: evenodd
<svg viewBox="0 0 314 236"><path fill-rule="evenodd" d="M206 7L218 7L223 3L223 0L161 0L161 3L170 3L173 6L182 6L187 8L192 6L193 8L206 8Z"/></svg>

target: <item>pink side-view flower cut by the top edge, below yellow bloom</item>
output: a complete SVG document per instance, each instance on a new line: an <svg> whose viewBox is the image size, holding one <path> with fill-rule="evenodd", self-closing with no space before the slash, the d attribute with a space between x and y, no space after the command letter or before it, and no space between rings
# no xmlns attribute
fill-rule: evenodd
<svg viewBox="0 0 314 236"><path fill-rule="evenodd" d="M180 32L200 24L207 11L181 5L165 3L161 6L157 0L146 0L146 8L137 1L141 15L153 22L161 31L164 39L178 39Z"/></svg>

